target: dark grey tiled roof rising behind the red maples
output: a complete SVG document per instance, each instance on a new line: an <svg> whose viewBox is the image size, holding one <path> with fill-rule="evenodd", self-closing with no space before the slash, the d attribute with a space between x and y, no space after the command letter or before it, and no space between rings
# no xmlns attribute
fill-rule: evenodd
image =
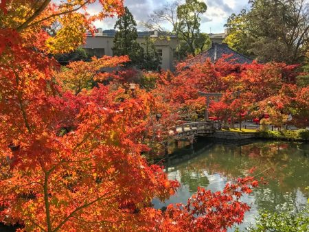
<svg viewBox="0 0 309 232"><path fill-rule="evenodd" d="M206 51L203 51L201 54L198 54L194 58L191 58L190 60L187 60L188 66L195 65L196 63L203 63L207 60L207 58L210 58L211 62L216 62L216 60L222 58L222 56L230 55L231 57L227 58L227 61L231 60L231 62L236 64L249 64L253 62L253 59L244 56L237 51L234 51L233 49L229 48L226 43L213 43L211 48L209 48Z"/></svg>

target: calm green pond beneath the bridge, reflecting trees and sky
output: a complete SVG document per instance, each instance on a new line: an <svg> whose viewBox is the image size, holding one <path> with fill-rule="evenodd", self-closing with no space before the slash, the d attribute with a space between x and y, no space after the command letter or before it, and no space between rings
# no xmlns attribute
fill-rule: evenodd
<svg viewBox="0 0 309 232"><path fill-rule="evenodd" d="M251 211L247 212L240 229L254 224L259 209L276 211L278 208L304 207L309 198L309 143L256 141L238 145L201 139L194 146L180 143L165 161L165 172L170 179L181 183L181 188L166 202L153 200L155 207L187 202L198 186L215 192L227 181L245 176L251 167L264 172L267 185L244 196Z"/></svg>

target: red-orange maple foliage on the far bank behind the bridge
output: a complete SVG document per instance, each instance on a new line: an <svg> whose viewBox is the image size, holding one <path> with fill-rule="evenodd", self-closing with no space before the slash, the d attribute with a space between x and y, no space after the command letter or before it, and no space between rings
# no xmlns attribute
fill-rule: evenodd
<svg viewBox="0 0 309 232"><path fill-rule="evenodd" d="M198 95L202 91L222 94L210 98L209 116L225 122L268 115L270 124L308 126L308 86L296 83L298 65L238 64L229 57L227 54L214 63L192 63L188 59L176 67L174 75L161 74L155 91L164 93L165 102L181 113L179 119L196 119L192 117L196 112L200 119L203 117L205 98Z"/></svg>

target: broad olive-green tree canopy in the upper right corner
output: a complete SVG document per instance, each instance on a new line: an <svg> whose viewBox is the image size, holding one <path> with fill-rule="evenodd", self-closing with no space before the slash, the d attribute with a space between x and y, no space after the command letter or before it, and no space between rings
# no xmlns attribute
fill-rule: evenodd
<svg viewBox="0 0 309 232"><path fill-rule="evenodd" d="M249 12L232 14L227 43L259 61L295 63L309 46L308 0L252 0Z"/></svg>

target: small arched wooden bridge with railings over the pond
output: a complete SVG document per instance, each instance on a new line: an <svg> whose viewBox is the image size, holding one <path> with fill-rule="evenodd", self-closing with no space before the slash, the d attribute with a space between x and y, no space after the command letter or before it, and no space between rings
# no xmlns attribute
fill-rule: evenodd
<svg viewBox="0 0 309 232"><path fill-rule="evenodd" d="M214 121L194 121L173 126L169 134L174 139L189 139L191 142L194 137L209 135L214 133L215 130Z"/></svg>

